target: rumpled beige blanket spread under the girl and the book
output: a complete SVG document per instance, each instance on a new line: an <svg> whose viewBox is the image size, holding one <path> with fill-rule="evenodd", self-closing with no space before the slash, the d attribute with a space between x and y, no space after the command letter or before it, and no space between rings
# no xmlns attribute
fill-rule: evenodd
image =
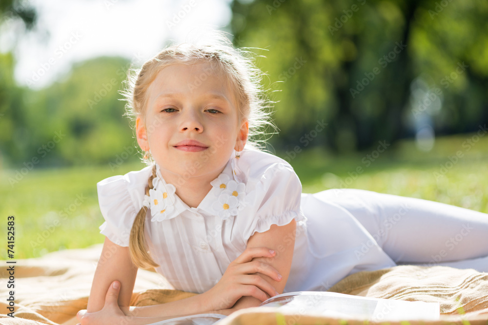
<svg viewBox="0 0 488 325"><path fill-rule="evenodd" d="M8 271L0 271L0 324L77 324L76 313L86 308L102 246L46 254L15 264L15 318L7 316ZM6 265L5 262L3 262ZM353 274L330 291L367 297L439 302L441 321L410 324L488 324L488 273L447 267L398 266ZM183 299L194 293L174 290L159 274L139 270L132 306L147 306ZM460 316L460 314L462 316ZM406 320L407 321L407 320ZM371 322L370 322L371 323ZM306 314L277 313L274 308L239 310L224 320L237 324L340 324L344 320ZM364 324L347 320L347 324ZM399 324L390 322L390 324ZM405 325L406 323L402 323Z"/></svg>

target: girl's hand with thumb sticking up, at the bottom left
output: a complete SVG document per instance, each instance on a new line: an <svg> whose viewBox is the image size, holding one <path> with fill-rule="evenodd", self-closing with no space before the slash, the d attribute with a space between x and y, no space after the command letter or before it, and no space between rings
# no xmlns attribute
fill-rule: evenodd
<svg viewBox="0 0 488 325"><path fill-rule="evenodd" d="M119 281L114 281L108 287L107 295L105 296L105 305L102 310L92 313L87 312L86 309L80 310L76 314L76 318L80 322L78 325L121 324L125 315L117 302L120 287Z"/></svg>

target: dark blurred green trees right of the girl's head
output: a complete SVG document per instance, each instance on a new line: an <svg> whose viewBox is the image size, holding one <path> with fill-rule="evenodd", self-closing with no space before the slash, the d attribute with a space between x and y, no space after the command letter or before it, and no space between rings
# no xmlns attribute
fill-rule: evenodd
<svg viewBox="0 0 488 325"><path fill-rule="evenodd" d="M235 45L269 50L256 63L280 101L274 144L326 141L348 151L411 136L415 113L426 110L425 98L411 97L419 77L427 95L440 90L442 109L427 110L437 131L473 131L488 118L486 1L234 0L231 7ZM314 132L322 119L325 131Z"/></svg>

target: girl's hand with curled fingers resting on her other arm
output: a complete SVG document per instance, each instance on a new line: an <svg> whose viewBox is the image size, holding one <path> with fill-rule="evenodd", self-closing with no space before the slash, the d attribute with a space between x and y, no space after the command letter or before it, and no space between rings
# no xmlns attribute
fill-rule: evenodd
<svg viewBox="0 0 488 325"><path fill-rule="evenodd" d="M256 272L263 273L276 281L281 281L281 274L276 268L260 261L256 257L274 257L275 251L264 247L247 248L225 270L220 281L202 294L207 310L229 309L243 296L252 296L261 301L278 294L273 286Z"/></svg>

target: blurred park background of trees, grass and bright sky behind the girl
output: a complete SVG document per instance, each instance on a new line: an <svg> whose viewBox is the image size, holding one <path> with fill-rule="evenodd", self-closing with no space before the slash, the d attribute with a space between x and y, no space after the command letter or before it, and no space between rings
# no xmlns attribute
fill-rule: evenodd
<svg viewBox="0 0 488 325"><path fill-rule="evenodd" d="M266 149L304 191L488 212L487 1L2 0L0 16L0 218L19 258L103 241L96 183L143 167L128 67L212 30L254 48L280 129Z"/></svg>

